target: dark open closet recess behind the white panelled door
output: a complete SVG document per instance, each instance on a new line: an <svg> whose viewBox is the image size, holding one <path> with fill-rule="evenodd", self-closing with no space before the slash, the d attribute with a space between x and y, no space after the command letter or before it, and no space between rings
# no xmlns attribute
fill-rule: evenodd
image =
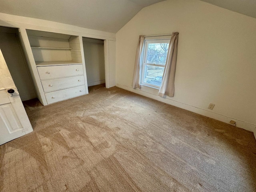
<svg viewBox="0 0 256 192"><path fill-rule="evenodd" d="M0 26L0 49L21 100L37 98L18 28Z"/></svg>

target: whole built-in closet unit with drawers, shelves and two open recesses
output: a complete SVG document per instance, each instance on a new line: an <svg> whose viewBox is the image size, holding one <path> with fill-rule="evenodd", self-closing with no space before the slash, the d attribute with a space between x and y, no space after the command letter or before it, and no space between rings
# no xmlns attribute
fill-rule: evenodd
<svg viewBox="0 0 256 192"><path fill-rule="evenodd" d="M23 101L48 105L115 85L114 40L0 27L0 48Z"/></svg>

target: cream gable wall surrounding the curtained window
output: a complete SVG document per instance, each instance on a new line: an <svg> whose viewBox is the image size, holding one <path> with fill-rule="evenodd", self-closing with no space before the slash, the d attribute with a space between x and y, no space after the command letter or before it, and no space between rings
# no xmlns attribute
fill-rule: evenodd
<svg viewBox="0 0 256 192"><path fill-rule="evenodd" d="M171 32L179 32L174 97L132 89L139 35ZM254 131L255 32L255 18L198 0L148 6L116 34L116 86Z"/></svg>

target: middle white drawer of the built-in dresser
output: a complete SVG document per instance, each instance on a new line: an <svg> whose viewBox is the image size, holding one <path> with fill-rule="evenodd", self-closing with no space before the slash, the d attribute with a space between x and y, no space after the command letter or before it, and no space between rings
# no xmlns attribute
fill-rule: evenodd
<svg viewBox="0 0 256 192"><path fill-rule="evenodd" d="M42 80L44 92L65 89L69 87L84 85L84 76L64 77L58 79Z"/></svg>

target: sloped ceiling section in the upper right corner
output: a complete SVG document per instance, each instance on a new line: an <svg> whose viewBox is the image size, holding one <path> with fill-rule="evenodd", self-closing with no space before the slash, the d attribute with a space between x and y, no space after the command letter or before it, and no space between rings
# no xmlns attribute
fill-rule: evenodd
<svg viewBox="0 0 256 192"><path fill-rule="evenodd" d="M201 0L210 4L256 18L256 0Z"/></svg>

